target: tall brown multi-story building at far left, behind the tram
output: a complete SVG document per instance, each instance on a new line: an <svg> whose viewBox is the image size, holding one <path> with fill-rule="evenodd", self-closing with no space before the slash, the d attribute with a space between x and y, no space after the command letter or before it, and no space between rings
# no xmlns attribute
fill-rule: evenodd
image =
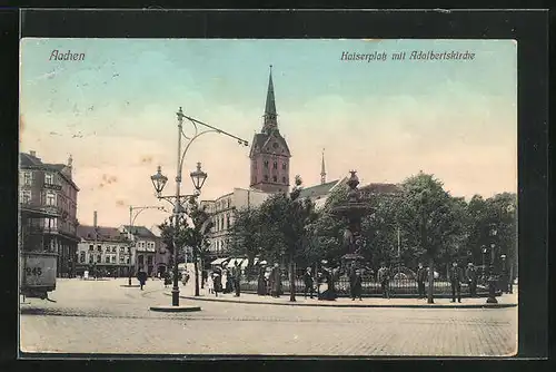
<svg viewBox="0 0 556 372"><path fill-rule="evenodd" d="M20 244L26 251L57 253L58 276L72 276L80 241L72 158L68 164L47 164L34 151L19 157Z"/></svg>

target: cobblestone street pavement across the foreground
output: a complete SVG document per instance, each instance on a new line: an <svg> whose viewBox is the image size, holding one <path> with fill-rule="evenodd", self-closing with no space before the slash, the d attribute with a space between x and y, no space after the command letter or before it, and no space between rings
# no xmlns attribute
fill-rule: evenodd
<svg viewBox="0 0 556 372"><path fill-rule="evenodd" d="M357 309L193 302L196 313L156 313L168 288L123 278L60 280L56 301L22 303L23 352L122 354L449 355L517 352L517 307ZM191 283L183 288L190 292Z"/></svg>

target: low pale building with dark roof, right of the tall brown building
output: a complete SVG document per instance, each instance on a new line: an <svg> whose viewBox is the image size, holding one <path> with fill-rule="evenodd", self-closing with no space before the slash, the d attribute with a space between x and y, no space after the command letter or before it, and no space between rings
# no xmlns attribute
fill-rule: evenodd
<svg viewBox="0 0 556 372"><path fill-rule="evenodd" d="M135 275L135 255L126 234L118 227L78 227L81 242L78 244L77 275L93 267L109 276Z"/></svg>

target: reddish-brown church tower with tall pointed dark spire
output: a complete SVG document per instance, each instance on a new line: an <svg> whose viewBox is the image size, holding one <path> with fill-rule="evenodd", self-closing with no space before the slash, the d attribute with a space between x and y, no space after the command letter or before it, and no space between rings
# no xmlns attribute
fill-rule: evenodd
<svg viewBox="0 0 556 372"><path fill-rule="evenodd" d="M278 129L272 66L270 65L262 129L255 135L249 154L251 161L249 186L266 193L288 192L290 157L288 144Z"/></svg>

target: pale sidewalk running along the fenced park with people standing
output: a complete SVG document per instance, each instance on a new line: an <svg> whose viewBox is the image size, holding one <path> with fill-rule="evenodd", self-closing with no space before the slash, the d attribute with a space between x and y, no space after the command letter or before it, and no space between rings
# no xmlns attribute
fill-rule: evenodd
<svg viewBox="0 0 556 372"><path fill-rule="evenodd" d="M165 292L167 295L171 295L171 288L167 288ZM270 296L259 296L251 293L242 293L239 297L235 297L234 293L208 294L206 288L200 290L200 296L195 296L195 287L192 283L188 283L187 286L180 287L180 298L187 298L192 301L212 301L212 302L229 302L239 304L258 304L258 305L282 305L282 306L320 306L320 307L408 307L408 309L420 309L420 307L433 307L433 309L483 309L483 307L515 307L517 306L517 291L513 294L504 294L496 297L498 300L497 304L487 304L486 297L476 298L461 298L461 303L453 303L448 298L435 298L434 304L428 304L427 300L418 298L377 298L377 297L364 297L363 301L347 297L338 297L336 301L318 301L316 298L304 298L302 293L296 295L296 302L289 301L289 294L281 295L279 298L274 298Z"/></svg>

